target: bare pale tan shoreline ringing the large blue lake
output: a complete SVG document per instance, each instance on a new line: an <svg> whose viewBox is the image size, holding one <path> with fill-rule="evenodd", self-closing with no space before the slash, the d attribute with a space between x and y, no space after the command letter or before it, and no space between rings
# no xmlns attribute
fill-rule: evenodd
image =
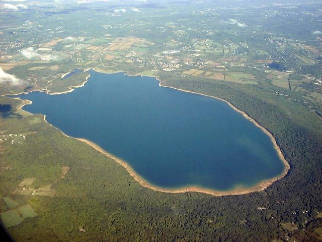
<svg viewBox="0 0 322 242"><path fill-rule="evenodd" d="M124 72L124 71L118 71L118 72L114 72L114 73L120 73L120 72ZM124 72L125 73L125 72ZM106 74L113 74L113 73L106 73ZM125 75L127 76L144 76L144 75L128 75L125 73ZM64 94L64 93L69 93L72 92L74 89L73 88L78 88L78 87L83 87L85 86L85 84L88 82L88 79L90 77L89 76L86 78L86 81L81 84L81 85L77 85L77 86L73 86L70 87L70 90L65 91L65 92L61 92L61 93L47 93L49 95L59 95L59 94ZM165 189L162 187L157 187L157 186L153 186L150 183L148 183L148 181L146 181L143 177L141 177L139 174L137 174L134 169L128 164L126 163L126 161L114 156L113 154L107 152L106 150L104 150L103 148L101 148L99 145L87 140L87 139L83 139L83 138L73 138L70 137L66 134L64 134L61 130L58 130L66 137L68 138L73 138L75 140L84 142L88 145L90 145L92 148L96 149L97 151L99 151L100 153L104 154L105 156L113 159L115 162L117 162L118 164L122 165L127 172L143 187L151 189L153 191L158 191L158 192L164 192L164 193L187 193L187 192L198 192L198 193L205 193L208 195L213 195L213 196L229 196L229 195L245 195L245 194L249 194L249 193L253 193L253 192L260 192L265 190L266 188L268 188L270 185L272 185L273 183L275 183L275 181L282 179L288 172L288 170L290 169L290 165L287 162L287 160L285 159L280 147L278 146L276 139L274 138L274 136L268 131L266 130L264 127L260 126L255 119L251 118L246 112L239 110L238 108L236 108L235 106L233 106L229 101L219 98L219 97L215 97L215 96L211 96L211 95L207 95L207 94L202 94L202 93L198 93L198 92L193 92L193 91L188 91L188 90L184 90L184 89L180 89L180 88L175 88L175 87L171 87L171 86L165 86L162 85L162 81L158 79L158 77L154 77L154 76L149 76L149 77L153 77L155 78L158 82L159 82L159 87L165 87L165 88L172 88L172 89L176 89L178 91L182 91L182 92L186 92L186 93L192 93L192 94L197 94L197 95L202 95L202 96L206 96L206 97L210 97L210 98L215 98L217 100L223 101L226 104L228 104L231 108L233 108L235 111L241 113L245 118L247 118L250 122L252 122L256 127L260 128L266 135L268 135L271 138L271 141L274 145L274 149L277 151L279 158L281 159L283 165L284 165L284 169L283 172L278 175L275 176L273 178L270 179L265 179L262 180L259 184L250 187L250 188L245 188L243 186L238 186L236 185L233 189L231 190L227 190L227 191L217 191L217 190L213 190L213 189L205 189L205 188L201 188L198 186L189 186L189 187L183 187L183 188L177 188L177 189ZM28 100L29 101L29 100ZM28 105L31 103L27 103L24 105ZM24 106L23 105L23 106ZM22 107L20 107L20 109L22 109ZM22 109L23 110L23 109ZM44 120L47 124L49 124L46 120L46 115L44 115ZM50 126L52 126L51 124L49 124ZM53 126L52 126L53 127ZM56 128L56 127L55 127Z"/></svg>

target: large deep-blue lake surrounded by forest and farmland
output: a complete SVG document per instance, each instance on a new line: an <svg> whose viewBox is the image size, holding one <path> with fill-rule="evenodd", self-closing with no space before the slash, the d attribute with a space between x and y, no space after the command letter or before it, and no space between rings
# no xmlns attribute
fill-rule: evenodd
<svg viewBox="0 0 322 242"><path fill-rule="evenodd" d="M33 102L25 110L95 142L159 187L251 187L284 168L270 138L225 102L159 87L154 78L91 71L71 93L20 97Z"/></svg>

